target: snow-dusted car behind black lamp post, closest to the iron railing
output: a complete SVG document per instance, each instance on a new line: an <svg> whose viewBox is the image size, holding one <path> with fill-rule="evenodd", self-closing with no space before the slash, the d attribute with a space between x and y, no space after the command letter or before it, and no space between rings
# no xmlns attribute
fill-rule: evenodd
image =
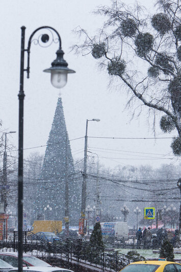
<svg viewBox="0 0 181 272"><path fill-rule="evenodd" d="M0 261L5 261L10 264L10 268L18 267L18 253L17 252L0 252ZM22 255L23 266L51 266L50 264L29 254ZM11 267L12 266L12 267Z"/></svg>

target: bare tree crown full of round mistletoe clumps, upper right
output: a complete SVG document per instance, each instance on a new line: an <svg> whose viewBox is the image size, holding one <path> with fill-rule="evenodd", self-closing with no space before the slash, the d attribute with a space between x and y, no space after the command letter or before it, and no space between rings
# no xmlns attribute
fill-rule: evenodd
<svg viewBox="0 0 181 272"><path fill-rule="evenodd" d="M180 0L157 0L159 13L146 14L138 4L126 6L112 0L97 13L108 19L94 37L81 29L83 44L76 52L89 53L103 69L126 86L131 102L140 101L155 116L161 112L160 127L165 133L177 130L171 148L181 155L181 19ZM138 65L139 64L139 65ZM135 67L139 67L135 69ZM154 129L154 127L153 127Z"/></svg>

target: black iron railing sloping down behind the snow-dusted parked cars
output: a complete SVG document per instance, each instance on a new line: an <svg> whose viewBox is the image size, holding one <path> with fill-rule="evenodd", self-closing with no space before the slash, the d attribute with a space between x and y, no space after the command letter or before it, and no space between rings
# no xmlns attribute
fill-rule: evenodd
<svg viewBox="0 0 181 272"><path fill-rule="evenodd" d="M0 239L1 251L17 251L17 231L0 232ZM30 232L23 232L23 251L32 253L34 256L37 254L37 257L61 258L67 262L86 263L110 271L119 271L130 263L128 256L91 245L82 239L60 239L47 242Z"/></svg>

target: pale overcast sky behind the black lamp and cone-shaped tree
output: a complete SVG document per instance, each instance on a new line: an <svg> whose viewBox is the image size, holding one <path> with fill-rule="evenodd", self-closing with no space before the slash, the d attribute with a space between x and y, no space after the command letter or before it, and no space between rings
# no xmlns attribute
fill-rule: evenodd
<svg viewBox="0 0 181 272"><path fill-rule="evenodd" d="M152 1L141 0L151 11ZM3 129L18 131L18 91L20 70L20 27L25 26L25 47L31 33L40 26L51 26L61 35L62 49L69 68L76 74L68 76L67 85L61 89L69 140L84 137L86 119L99 118L90 122L88 135L94 137L151 138L154 137L143 114L131 121L131 112L124 110L126 93L122 89L109 89L108 73L98 71L92 56L76 56L70 47L79 42L72 33L77 26L94 34L102 26L104 17L92 14L98 5L110 5L110 0L1 0L1 99L0 119ZM126 0L126 4L134 1ZM30 79L24 74L24 148L45 145L53 122L59 90L51 86L49 74L42 71L55 59L57 44L43 49L32 44L30 56ZM26 55L25 55L26 59ZM122 88L122 87L121 87ZM145 111L146 112L146 111ZM172 137L163 134L157 125L157 137ZM17 146L18 135L8 135L9 142ZM117 165L150 164L157 167L162 163L178 163L170 149L171 139L88 139L89 149L96 152L99 161L110 168ZM84 139L70 142L74 158L83 158ZM79 151L76 151L79 150ZM44 153L45 148L24 151ZM132 153L135 152L135 153ZM138 153L138 152L143 152ZM144 154L146 153L146 154ZM152 154L149 154L152 153ZM165 158L173 158L166 160Z"/></svg>

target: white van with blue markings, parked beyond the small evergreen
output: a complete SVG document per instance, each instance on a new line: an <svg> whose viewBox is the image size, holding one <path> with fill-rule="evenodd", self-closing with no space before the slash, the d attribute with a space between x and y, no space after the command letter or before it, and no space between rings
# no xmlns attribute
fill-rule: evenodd
<svg viewBox="0 0 181 272"><path fill-rule="evenodd" d="M102 222L100 225L103 237L128 238L127 222Z"/></svg>

